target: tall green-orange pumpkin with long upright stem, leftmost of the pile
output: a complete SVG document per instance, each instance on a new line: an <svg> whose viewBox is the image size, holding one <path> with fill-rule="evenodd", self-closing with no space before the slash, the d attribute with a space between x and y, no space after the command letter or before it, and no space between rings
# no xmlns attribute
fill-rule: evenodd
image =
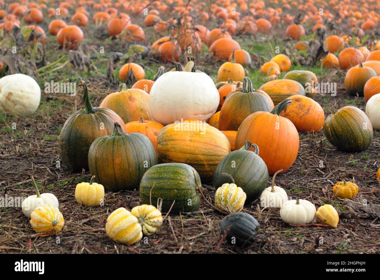
<svg viewBox="0 0 380 280"><path fill-rule="evenodd" d="M108 108L92 107L86 83L82 80L84 109L72 114L62 127L58 149L62 163L72 171L89 170L87 155L92 142L99 136L111 135L114 123L123 120ZM123 126L124 129L124 126Z"/></svg>

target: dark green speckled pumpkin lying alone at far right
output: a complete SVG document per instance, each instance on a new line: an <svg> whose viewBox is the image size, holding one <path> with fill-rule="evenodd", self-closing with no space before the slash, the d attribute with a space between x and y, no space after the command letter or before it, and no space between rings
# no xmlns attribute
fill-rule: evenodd
<svg viewBox="0 0 380 280"><path fill-rule="evenodd" d="M323 124L326 139L339 150L360 152L369 147L374 138L369 118L362 110L353 106L345 106L336 110Z"/></svg>

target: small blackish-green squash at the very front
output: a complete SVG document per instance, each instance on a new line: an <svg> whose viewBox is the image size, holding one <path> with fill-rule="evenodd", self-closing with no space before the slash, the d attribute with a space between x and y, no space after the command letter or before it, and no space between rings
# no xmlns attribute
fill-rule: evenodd
<svg viewBox="0 0 380 280"><path fill-rule="evenodd" d="M220 224L222 235L226 234L226 241L231 245L247 247L252 245L260 225L253 216L244 212L236 212L225 216Z"/></svg>

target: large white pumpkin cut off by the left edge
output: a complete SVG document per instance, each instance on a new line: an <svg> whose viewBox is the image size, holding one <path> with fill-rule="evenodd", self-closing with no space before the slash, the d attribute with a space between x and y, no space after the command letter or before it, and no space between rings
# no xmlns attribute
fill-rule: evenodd
<svg viewBox="0 0 380 280"><path fill-rule="evenodd" d="M40 104L40 98L40 86L30 76L13 74L0 79L0 113L32 115Z"/></svg>

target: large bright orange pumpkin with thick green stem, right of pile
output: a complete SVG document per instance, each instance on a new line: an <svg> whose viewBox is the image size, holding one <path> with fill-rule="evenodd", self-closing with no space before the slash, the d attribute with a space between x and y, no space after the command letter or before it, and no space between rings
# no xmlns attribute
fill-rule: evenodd
<svg viewBox="0 0 380 280"><path fill-rule="evenodd" d="M255 143L271 175L281 169L287 171L298 154L297 129L290 120L280 116L291 102L285 99L271 112L249 115L237 130L235 146L242 147L245 141Z"/></svg>

